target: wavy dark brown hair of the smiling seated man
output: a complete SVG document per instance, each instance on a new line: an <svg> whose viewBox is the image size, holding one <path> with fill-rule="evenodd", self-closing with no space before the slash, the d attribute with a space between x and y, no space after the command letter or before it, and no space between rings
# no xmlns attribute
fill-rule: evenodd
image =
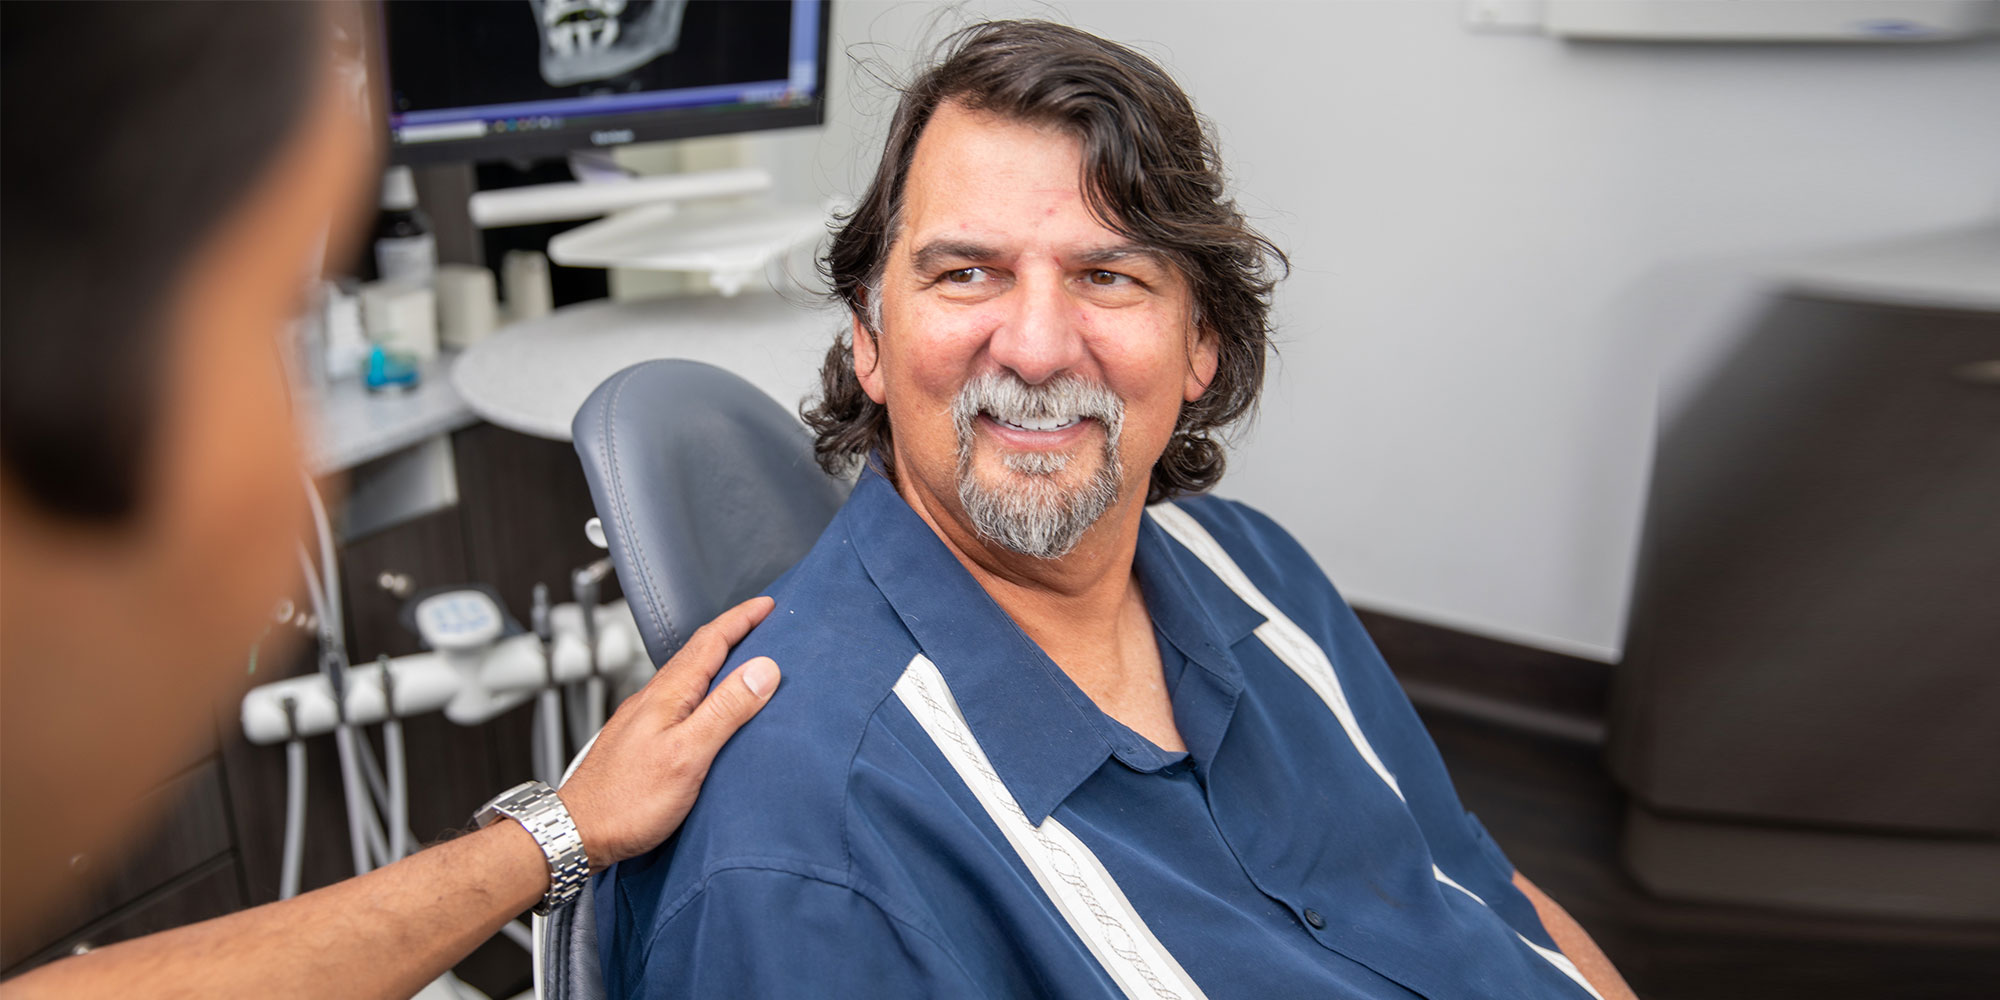
<svg viewBox="0 0 2000 1000"><path fill-rule="evenodd" d="M1228 198L1206 122L1146 56L1042 20L962 28L942 52L902 90L874 182L820 260L834 298L868 336L880 334L876 290L900 230L916 142L938 106L954 102L1074 134L1084 146L1080 186L1092 214L1164 254L1194 292L1196 324L1218 340L1216 378L1202 398L1182 404L1146 502L1206 492L1222 478L1216 432L1252 412L1264 388L1270 294L1288 268L1284 252ZM854 378L846 334L826 352L820 398L800 416L816 432L814 450L830 474L850 472L870 452L894 474L888 410Z"/></svg>

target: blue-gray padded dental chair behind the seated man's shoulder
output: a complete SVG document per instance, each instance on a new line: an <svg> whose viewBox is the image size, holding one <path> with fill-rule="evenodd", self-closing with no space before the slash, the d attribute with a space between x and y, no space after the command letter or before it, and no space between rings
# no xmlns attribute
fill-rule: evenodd
<svg viewBox="0 0 2000 1000"><path fill-rule="evenodd" d="M570 432L654 664L798 562L850 488L820 472L796 416L712 364L634 364ZM590 888L534 924L536 998L602 998Z"/></svg>

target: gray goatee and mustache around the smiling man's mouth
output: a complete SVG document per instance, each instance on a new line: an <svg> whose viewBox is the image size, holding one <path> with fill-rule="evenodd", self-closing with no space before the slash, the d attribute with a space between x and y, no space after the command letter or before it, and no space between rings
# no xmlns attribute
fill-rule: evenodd
<svg viewBox="0 0 2000 1000"><path fill-rule="evenodd" d="M1008 452L1002 462L1016 476L990 488L972 472L972 422L980 414L1008 424L1098 420L1104 424L1104 460L1088 482L1064 486L1056 476L1068 468L1068 454ZM988 372L958 390L952 422L958 428L958 502L988 542L1024 556L1062 558L1118 500L1124 400L1104 386L1074 374L1030 386L1012 372Z"/></svg>

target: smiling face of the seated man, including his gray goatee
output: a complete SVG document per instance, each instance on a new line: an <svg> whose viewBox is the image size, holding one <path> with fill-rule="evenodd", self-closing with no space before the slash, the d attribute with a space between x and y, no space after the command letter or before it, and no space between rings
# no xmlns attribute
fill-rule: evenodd
<svg viewBox="0 0 2000 1000"><path fill-rule="evenodd" d="M854 330L904 496L1040 558L1144 500L1216 370L1186 280L1092 218L1080 180L1074 136L944 104L910 162L882 330Z"/></svg>

